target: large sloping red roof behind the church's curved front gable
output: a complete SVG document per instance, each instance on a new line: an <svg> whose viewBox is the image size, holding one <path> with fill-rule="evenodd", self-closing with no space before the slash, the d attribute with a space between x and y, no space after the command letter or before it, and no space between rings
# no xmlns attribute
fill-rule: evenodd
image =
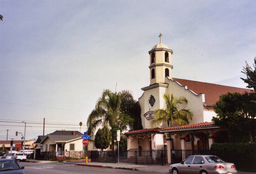
<svg viewBox="0 0 256 174"><path fill-rule="evenodd" d="M185 80L179 78L173 78L174 81L179 82L181 85L187 86L188 90L195 92L196 94L205 94L205 104L213 106L220 98L221 95L226 93L250 93L251 90L236 88L231 86L224 86L220 84L206 83L193 80Z"/></svg>

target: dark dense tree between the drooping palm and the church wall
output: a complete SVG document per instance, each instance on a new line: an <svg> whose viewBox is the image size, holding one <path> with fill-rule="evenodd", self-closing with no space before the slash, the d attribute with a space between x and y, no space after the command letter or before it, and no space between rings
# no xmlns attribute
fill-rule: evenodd
<svg viewBox="0 0 256 174"><path fill-rule="evenodd" d="M126 117L130 116L133 120L129 124L131 130L142 129L141 118L140 118L140 105L139 102L134 100L133 95L129 91L122 91L120 113Z"/></svg>

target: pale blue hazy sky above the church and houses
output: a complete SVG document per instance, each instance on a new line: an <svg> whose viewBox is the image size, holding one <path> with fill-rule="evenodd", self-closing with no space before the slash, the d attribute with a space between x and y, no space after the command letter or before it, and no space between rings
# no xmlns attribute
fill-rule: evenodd
<svg viewBox="0 0 256 174"><path fill-rule="evenodd" d="M246 0L0 1L0 140L20 140L22 121L26 140L36 139L44 118L45 135L79 122L86 132L104 89L138 100L160 32L173 77L246 88L255 9Z"/></svg>

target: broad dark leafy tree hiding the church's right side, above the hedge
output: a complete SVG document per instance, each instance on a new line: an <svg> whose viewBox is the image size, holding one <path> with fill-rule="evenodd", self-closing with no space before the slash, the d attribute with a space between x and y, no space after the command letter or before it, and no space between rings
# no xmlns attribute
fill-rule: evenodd
<svg viewBox="0 0 256 174"><path fill-rule="evenodd" d="M230 142L253 142L256 135L255 93L227 93L214 105L215 125L228 129ZM254 140L253 140L254 139Z"/></svg>

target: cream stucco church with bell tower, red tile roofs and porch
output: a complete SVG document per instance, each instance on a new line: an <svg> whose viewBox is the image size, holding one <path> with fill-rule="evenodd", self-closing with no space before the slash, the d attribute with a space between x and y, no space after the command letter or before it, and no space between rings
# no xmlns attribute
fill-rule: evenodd
<svg viewBox="0 0 256 174"><path fill-rule="evenodd" d="M127 137L127 150L165 149L168 163L171 163L172 149L209 149L212 143L220 141L218 137L225 134L225 130L212 126L214 123L211 118L216 116L213 105L222 94L250 90L173 78L173 50L161 43L161 33L159 37L160 44L148 51L150 85L141 89L143 94L139 98L143 129L126 132L124 135ZM168 127L167 123L161 123L151 126L154 111L166 108L164 94L184 97L188 101L180 105L180 109L185 108L193 113L193 119L189 120L188 125L175 123Z"/></svg>

